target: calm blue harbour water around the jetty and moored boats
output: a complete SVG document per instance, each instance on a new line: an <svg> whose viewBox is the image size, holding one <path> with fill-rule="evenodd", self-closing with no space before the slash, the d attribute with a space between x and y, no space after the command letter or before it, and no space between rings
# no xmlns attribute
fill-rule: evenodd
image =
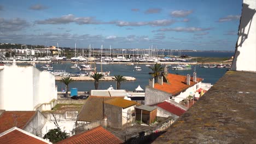
<svg viewBox="0 0 256 144"><path fill-rule="evenodd" d="M73 64L71 63L62 63L62 64L53 64L54 70L66 70L67 72L71 73L83 73L84 71L79 71L76 69L71 69L69 66ZM153 64L152 64L153 65ZM108 64L102 65L103 71L110 71L110 76L114 75L123 75L123 76L132 76L136 78L136 81L127 81L121 82L121 88L127 89L128 91L133 91L135 88L140 85L143 89L145 86L148 85L148 80L152 76L148 73L150 69L146 67L145 64L137 64L137 66L141 67L141 71L135 70L135 65L125 65L125 64ZM40 64L37 65L40 67ZM100 65L96 65L97 70L100 71ZM193 75L194 67L196 67L197 77L203 78L203 82L210 82L212 84L216 83L220 77L222 77L225 72L226 68L200 68L199 65L193 65L193 70L171 70L168 69L169 73L172 74L179 74L179 75ZM58 86L58 91L65 89L65 85L61 82L56 82ZM107 89L112 85L115 88L114 81L100 81L99 89ZM78 91L90 91L90 89L94 89L94 81L87 81L87 82L73 82L69 85L69 88L78 88Z"/></svg>

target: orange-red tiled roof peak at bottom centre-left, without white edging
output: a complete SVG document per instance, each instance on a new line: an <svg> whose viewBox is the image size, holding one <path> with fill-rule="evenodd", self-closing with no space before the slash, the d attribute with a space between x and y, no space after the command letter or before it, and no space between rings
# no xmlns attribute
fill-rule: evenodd
<svg viewBox="0 0 256 144"><path fill-rule="evenodd" d="M118 137L102 128L101 126L85 131L84 133L71 136L58 143L123 143Z"/></svg>

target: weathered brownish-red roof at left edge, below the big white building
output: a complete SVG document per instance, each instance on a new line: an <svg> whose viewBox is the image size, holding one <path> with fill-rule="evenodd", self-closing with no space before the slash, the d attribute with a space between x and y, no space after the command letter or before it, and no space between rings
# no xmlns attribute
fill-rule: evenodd
<svg viewBox="0 0 256 144"><path fill-rule="evenodd" d="M13 127L23 129L36 111L5 111L0 115L0 133ZM16 121L15 121L16 119Z"/></svg>

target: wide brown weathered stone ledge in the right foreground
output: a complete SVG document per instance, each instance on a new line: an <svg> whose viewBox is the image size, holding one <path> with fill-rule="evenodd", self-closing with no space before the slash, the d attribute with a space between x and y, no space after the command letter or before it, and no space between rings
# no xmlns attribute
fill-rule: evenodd
<svg viewBox="0 0 256 144"><path fill-rule="evenodd" d="M154 143L256 143L256 73L228 71Z"/></svg>

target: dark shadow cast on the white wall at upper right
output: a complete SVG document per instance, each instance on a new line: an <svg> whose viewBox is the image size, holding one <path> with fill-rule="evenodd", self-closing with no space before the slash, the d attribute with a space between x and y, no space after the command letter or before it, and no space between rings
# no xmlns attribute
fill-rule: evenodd
<svg viewBox="0 0 256 144"><path fill-rule="evenodd" d="M243 3L242 15L240 18L240 25L239 25L239 31L238 31L238 39L236 42L236 52L235 52L234 60L232 62L232 67L231 67L232 70L236 70L237 57L240 55L240 51L237 50L237 47L242 46L242 44L248 38L249 31L252 25L252 18L255 12L256 12L255 9L250 9L248 4ZM248 31L245 31L247 26L248 26ZM241 40L240 40L240 43L238 44L239 39Z"/></svg>

